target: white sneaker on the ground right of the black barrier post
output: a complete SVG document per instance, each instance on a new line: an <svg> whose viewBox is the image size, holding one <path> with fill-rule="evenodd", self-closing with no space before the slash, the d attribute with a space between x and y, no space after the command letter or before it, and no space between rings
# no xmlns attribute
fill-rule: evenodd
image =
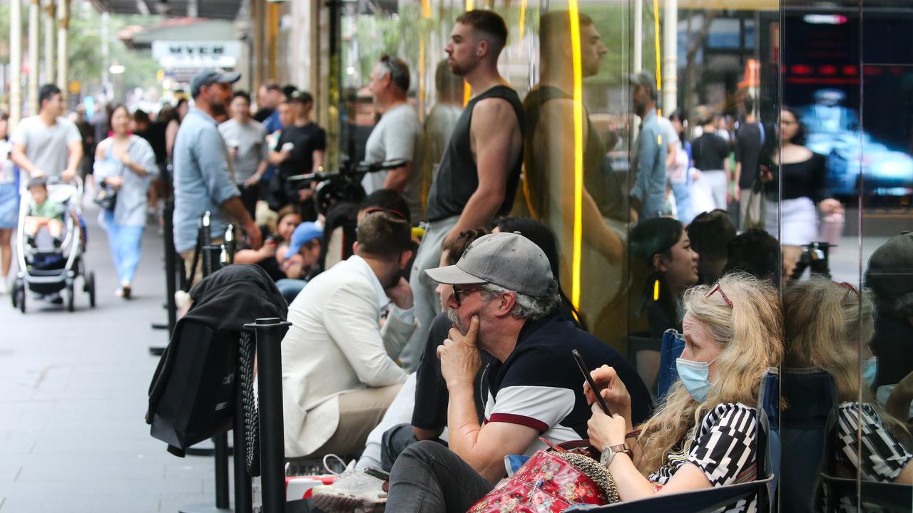
<svg viewBox="0 0 913 513"><path fill-rule="evenodd" d="M326 463L327 457L330 456L342 461L337 455L326 455L323 457L323 466L331 474L337 474ZM368 476L361 470L356 470L355 460L352 460L338 476L332 485L313 488L311 497L314 506L320 508L320 511L325 513L383 513L387 503L387 494L381 488L383 481L377 477Z"/></svg>

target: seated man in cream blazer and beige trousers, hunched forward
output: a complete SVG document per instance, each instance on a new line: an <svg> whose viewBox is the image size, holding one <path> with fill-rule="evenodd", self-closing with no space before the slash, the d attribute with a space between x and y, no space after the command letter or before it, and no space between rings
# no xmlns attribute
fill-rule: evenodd
<svg viewBox="0 0 913 513"><path fill-rule="evenodd" d="M395 215L367 215L355 254L289 305L281 349L286 457L357 453L405 381L394 359L415 330L403 277L411 231Z"/></svg>

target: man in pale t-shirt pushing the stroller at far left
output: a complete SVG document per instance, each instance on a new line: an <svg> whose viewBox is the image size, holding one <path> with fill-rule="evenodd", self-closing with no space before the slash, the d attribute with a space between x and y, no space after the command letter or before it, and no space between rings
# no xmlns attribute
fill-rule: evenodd
<svg viewBox="0 0 913 513"><path fill-rule="evenodd" d="M37 116L19 121L13 132L13 162L22 170L23 183L39 176L69 182L82 159L82 136L73 121L62 117L64 102L57 86L41 86L38 105Z"/></svg>

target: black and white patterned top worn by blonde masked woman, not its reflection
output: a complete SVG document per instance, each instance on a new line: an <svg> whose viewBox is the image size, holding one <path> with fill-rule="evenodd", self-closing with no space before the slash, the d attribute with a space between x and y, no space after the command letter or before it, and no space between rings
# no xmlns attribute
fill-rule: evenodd
<svg viewBox="0 0 913 513"><path fill-rule="evenodd" d="M722 403L704 415L669 454L666 465L648 478L666 485L681 466L691 463L707 476L714 487L752 481L757 477L755 409L742 403ZM724 509L726 513L754 513L757 500L742 499Z"/></svg>

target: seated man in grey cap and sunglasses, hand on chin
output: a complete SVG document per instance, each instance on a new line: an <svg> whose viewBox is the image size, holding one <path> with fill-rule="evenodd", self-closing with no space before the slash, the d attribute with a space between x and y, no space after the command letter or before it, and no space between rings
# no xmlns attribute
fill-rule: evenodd
<svg viewBox="0 0 913 513"><path fill-rule="evenodd" d="M614 367L632 398L631 404L615 405L616 412L635 424L645 420L650 395L644 383L618 351L561 320L549 259L529 239L508 233L481 236L456 265L425 272L453 286L446 307L454 329L437 349L449 393L452 453L425 442L406 449L396 465L405 458L402 465L410 468L404 475L418 476L421 482L413 483L415 489L427 487L428 473L436 472L420 455L426 450L446 452L434 457L452 458L455 466L468 464L467 473L472 470L494 481L504 473L505 455L531 455L544 448L540 436L554 444L586 438L591 409L572 358L575 349L591 369ZM473 399L479 350L493 357L483 378L488 381L484 424ZM456 464L459 459L465 464Z"/></svg>

